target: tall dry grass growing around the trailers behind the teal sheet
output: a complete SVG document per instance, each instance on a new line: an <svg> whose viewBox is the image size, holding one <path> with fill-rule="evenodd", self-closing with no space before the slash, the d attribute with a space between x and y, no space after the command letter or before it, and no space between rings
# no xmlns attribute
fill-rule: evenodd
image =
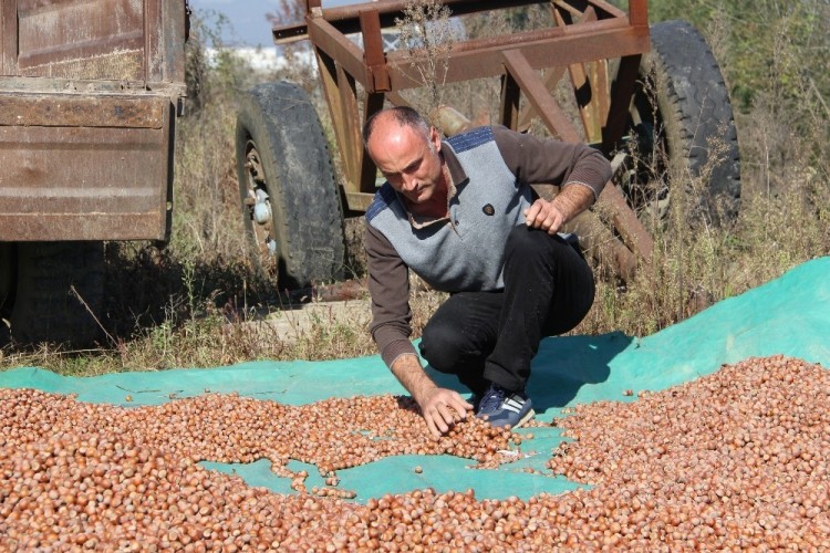
<svg viewBox="0 0 830 553"><path fill-rule="evenodd" d="M301 340L289 341L262 321L263 313L279 311L288 300L274 282L251 270L241 239L234 106L235 91L249 84L248 75L237 62L205 70L200 108L179 121L168 248L107 246L112 338L87 352L51 345L6 348L0 351L0 367L37 365L92 375L374 353L365 324L320 316ZM314 90L308 74L291 76ZM486 122L492 109L487 102L497 90L492 83L478 86L475 94L459 87L448 91L447 100L457 95L466 102L459 108ZM596 301L575 333L647 335L830 253L828 114L821 103L784 101L782 94L772 83L750 111L738 115L743 205L734 225L704 225L693 231L687 213L672 210L653 228L653 263L642 267L633 281L623 286L606 269L595 268ZM318 107L330 126L328 111ZM807 123L791 128L791 121ZM694 194L702 186L688 175L672 178L673 189ZM357 276L365 268L360 226L360 219L347 225L349 263ZM428 291L415 293L416 336L442 299Z"/></svg>

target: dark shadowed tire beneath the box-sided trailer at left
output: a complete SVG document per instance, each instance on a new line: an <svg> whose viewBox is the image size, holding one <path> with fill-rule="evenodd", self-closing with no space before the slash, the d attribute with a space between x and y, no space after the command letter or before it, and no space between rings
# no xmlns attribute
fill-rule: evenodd
<svg viewBox="0 0 830 553"><path fill-rule="evenodd" d="M0 313L15 343L86 346L101 337L103 242L3 243L0 259L8 262Z"/></svg>

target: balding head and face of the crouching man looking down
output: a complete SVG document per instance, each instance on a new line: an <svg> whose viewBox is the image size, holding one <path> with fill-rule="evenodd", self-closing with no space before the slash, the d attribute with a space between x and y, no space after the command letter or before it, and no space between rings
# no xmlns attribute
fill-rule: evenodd
<svg viewBox="0 0 830 553"><path fill-rule="evenodd" d="M376 123L367 149L386 180L412 204L425 204L446 187L435 128L426 139L416 129L386 117Z"/></svg>

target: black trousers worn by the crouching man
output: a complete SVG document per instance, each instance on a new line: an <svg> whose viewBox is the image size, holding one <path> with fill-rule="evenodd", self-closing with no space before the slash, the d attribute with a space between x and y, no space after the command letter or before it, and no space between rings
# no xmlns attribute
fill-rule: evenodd
<svg viewBox="0 0 830 553"><path fill-rule="evenodd" d="M490 382L525 390L541 338L577 326L593 298L578 247L521 225L505 246L505 289L450 295L424 327L421 354L475 394Z"/></svg>

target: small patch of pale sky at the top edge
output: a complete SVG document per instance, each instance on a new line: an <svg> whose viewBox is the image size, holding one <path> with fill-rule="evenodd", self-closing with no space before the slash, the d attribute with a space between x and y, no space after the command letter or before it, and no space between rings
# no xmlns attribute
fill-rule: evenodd
<svg viewBox="0 0 830 553"><path fill-rule="evenodd" d="M357 3L363 0L323 0L323 8ZM271 24L266 13L276 12L279 0L189 0L190 9L207 15L209 11L228 18L222 41L229 46L271 46Z"/></svg>

